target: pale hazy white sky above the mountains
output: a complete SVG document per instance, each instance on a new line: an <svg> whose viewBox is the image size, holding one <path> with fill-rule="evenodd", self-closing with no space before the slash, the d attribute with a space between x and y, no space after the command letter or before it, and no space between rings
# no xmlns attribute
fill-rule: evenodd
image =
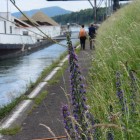
<svg viewBox="0 0 140 140"><path fill-rule="evenodd" d="M10 2L10 0L0 0L0 11L5 12L7 9L7 1L9 4L9 11L16 12L18 11ZM100 1L100 0L99 0ZM102 0L101 0L102 1ZM91 1L94 5L94 1ZM44 7L51 7L51 6L59 6L66 10L70 11L79 11L81 9L92 8L88 0L85 1L55 1L50 2L46 0L15 0L16 5L23 11L31 10L31 9L39 9ZM97 0L97 5L99 4ZM103 2L104 5L104 2Z"/></svg>

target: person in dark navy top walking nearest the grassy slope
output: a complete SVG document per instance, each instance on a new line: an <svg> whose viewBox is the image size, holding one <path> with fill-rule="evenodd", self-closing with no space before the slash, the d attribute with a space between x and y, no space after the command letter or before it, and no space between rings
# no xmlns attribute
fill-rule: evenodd
<svg viewBox="0 0 140 140"><path fill-rule="evenodd" d="M89 42L90 42L90 49L93 49L93 39L95 38L96 35L96 28L91 24L91 26L88 28L89 29Z"/></svg>

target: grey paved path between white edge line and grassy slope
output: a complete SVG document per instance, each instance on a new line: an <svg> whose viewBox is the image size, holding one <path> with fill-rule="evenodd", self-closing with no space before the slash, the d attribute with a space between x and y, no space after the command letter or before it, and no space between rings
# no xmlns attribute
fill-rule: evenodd
<svg viewBox="0 0 140 140"><path fill-rule="evenodd" d="M94 52L94 50L89 49L87 40L86 50L81 50L78 54L81 72L85 77L90 68L92 52ZM62 105L67 103L63 89L65 89L67 93L70 91L69 68L62 72L61 75L57 83L52 85L47 84L42 89L42 91L46 90L48 95L42 103L37 108L33 109L25 118L21 125L22 131L14 136L4 136L2 140L33 140L52 137L48 129L43 125L50 127L56 136L65 136L61 109ZM84 83L85 82L86 80Z"/></svg>

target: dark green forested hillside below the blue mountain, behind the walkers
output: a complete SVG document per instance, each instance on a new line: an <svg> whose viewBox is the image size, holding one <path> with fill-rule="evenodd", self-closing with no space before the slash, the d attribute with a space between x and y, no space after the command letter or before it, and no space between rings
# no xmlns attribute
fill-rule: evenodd
<svg viewBox="0 0 140 140"><path fill-rule="evenodd" d="M106 9L105 8L98 8L97 9L97 22L102 22L106 17ZM94 9L85 9L80 10L79 12L72 12L70 14L59 15L53 17L53 19L61 24L67 23L77 23L77 24L89 24L94 22Z"/></svg>

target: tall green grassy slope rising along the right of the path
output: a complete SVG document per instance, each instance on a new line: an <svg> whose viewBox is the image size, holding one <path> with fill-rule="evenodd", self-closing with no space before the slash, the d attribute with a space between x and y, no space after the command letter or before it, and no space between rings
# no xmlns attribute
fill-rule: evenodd
<svg viewBox="0 0 140 140"><path fill-rule="evenodd" d="M125 126L127 131L101 128L100 139L112 131L115 139L136 140L139 135L140 106L140 1L118 10L99 28L96 38L96 56L89 73L88 102L91 111L100 123ZM137 77L136 91L133 91L129 72ZM116 91L116 72L121 74L121 89L126 111L122 111ZM131 98L135 94L135 98ZM136 111L132 111L131 103ZM110 119L112 118L113 119ZM134 123L135 122L135 123Z"/></svg>

